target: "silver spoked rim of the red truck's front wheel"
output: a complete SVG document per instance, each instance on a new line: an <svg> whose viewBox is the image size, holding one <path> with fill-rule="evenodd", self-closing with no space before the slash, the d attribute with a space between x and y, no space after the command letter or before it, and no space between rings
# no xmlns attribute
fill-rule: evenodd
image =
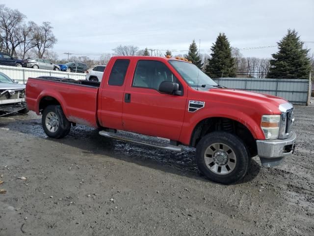
<svg viewBox="0 0 314 236"><path fill-rule="evenodd" d="M204 154L204 160L209 170L217 175L230 174L236 165L236 155L226 144L211 144Z"/></svg>

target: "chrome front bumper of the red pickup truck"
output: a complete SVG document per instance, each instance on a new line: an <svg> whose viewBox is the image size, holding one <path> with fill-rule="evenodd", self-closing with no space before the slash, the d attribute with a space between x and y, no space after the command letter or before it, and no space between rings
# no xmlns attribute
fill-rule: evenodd
<svg viewBox="0 0 314 236"><path fill-rule="evenodd" d="M285 156L294 151L296 134L291 131L287 139L257 140L257 151L262 165L266 167L278 166Z"/></svg>

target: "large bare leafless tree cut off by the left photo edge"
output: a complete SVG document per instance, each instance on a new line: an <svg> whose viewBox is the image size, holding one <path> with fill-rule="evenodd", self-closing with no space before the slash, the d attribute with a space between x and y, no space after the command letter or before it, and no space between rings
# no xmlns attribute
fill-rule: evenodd
<svg viewBox="0 0 314 236"><path fill-rule="evenodd" d="M0 37L2 47L16 57L16 49L23 42L21 23L26 18L19 10L0 5Z"/></svg>

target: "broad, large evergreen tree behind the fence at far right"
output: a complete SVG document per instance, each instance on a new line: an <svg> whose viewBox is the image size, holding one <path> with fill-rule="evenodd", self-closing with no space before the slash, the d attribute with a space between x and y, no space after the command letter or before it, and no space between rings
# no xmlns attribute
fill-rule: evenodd
<svg viewBox="0 0 314 236"><path fill-rule="evenodd" d="M303 42L295 29L277 43L279 51L272 55L267 78L307 79L311 70L310 50L303 48Z"/></svg>

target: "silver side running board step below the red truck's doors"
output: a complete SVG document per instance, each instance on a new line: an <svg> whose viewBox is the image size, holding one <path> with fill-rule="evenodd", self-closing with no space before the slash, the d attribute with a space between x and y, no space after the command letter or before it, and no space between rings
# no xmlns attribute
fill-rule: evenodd
<svg viewBox="0 0 314 236"><path fill-rule="evenodd" d="M178 152L183 150L182 147L179 147L179 146L173 146L173 145L170 145L170 144L152 142L152 141L141 139L141 138L138 138L138 137L132 137L131 135L127 136L127 135L107 132L107 131L104 131L104 130L99 131L99 134L101 136L106 137L106 138L123 140L123 141L132 142L132 143L136 143L136 144L146 145L146 146L149 146L149 147L154 147L154 148L161 148L161 149L166 149L166 150L170 150L170 151L178 151Z"/></svg>

